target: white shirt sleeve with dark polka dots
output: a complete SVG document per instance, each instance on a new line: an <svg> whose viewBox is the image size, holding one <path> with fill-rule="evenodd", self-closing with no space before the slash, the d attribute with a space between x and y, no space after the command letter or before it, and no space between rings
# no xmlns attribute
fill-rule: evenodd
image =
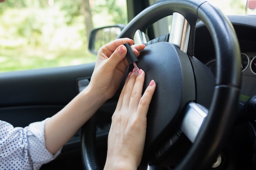
<svg viewBox="0 0 256 170"><path fill-rule="evenodd" d="M49 119L49 118L48 118ZM38 121L25 128L14 128L0 120L0 169L39 170L61 152L52 155L45 148L45 122Z"/></svg>

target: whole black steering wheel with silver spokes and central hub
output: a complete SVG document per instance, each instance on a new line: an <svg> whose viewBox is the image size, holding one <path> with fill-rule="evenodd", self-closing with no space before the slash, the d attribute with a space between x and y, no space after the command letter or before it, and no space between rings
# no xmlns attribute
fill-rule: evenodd
<svg viewBox="0 0 256 170"><path fill-rule="evenodd" d="M185 18L183 23L189 23L185 26L187 29L182 26L177 31L172 24L171 30L176 31L147 42L137 62L146 73L145 84L151 79L157 84L147 116L143 162L151 168L158 165L173 166L175 170L206 169L225 144L238 105L241 61L232 24L210 2L161 0L133 18L118 38L134 38L137 30L146 33L154 22L175 13ZM176 14L173 20L175 17ZM213 40L216 78L194 57L198 19L204 22ZM182 39L182 47L173 41L170 43L170 39L175 40L175 35L183 32L187 38ZM92 124L89 121L82 128L82 156L87 170L99 169Z"/></svg>

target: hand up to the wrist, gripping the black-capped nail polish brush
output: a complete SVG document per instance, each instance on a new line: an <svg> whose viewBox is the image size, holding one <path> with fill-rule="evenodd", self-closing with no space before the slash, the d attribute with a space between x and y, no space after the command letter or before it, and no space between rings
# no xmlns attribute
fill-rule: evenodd
<svg viewBox="0 0 256 170"><path fill-rule="evenodd" d="M126 69L129 66L125 57L127 49L123 45L126 42L130 45L133 44L133 40L129 38L121 38L114 40L99 49L89 86L97 93L97 97L102 97L105 101L113 97L116 93ZM144 48L144 44L132 46L137 57L139 56L140 51Z"/></svg>

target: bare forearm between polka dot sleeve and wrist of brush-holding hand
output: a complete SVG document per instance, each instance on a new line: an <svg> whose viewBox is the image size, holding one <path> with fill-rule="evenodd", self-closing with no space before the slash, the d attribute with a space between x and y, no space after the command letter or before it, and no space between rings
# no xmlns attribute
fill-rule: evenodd
<svg viewBox="0 0 256 170"><path fill-rule="evenodd" d="M56 153L105 102L94 91L85 88L67 106L45 123L45 145Z"/></svg>

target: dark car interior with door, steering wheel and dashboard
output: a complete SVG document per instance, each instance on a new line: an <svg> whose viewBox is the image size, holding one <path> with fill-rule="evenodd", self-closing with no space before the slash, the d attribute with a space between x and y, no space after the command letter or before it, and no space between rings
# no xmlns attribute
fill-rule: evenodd
<svg viewBox="0 0 256 170"><path fill-rule="evenodd" d="M120 29L115 38L146 44L137 66L145 84L154 79L157 88L139 169L255 170L256 10L225 15L204 0L127 0L126 6L128 24L95 28L89 49L97 53L104 39L97 33L107 27ZM86 88L94 66L0 73L0 119L25 127L51 117ZM123 85L40 170L103 169Z"/></svg>

